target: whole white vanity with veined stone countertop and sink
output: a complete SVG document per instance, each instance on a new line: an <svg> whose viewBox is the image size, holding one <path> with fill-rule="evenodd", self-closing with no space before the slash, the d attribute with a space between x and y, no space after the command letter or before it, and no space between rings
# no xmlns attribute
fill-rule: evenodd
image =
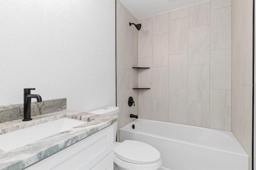
<svg viewBox="0 0 256 170"><path fill-rule="evenodd" d="M113 169L112 124L116 121L65 109L32 121L0 123L0 169ZM1 144L5 138L9 144Z"/></svg>

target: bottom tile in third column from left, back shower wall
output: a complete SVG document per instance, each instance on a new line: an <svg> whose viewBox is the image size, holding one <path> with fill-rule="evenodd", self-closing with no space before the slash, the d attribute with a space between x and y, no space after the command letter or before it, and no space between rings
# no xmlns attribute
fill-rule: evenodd
<svg viewBox="0 0 256 170"><path fill-rule="evenodd" d="M187 89L169 89L169 122L188 124Z"/></svg>

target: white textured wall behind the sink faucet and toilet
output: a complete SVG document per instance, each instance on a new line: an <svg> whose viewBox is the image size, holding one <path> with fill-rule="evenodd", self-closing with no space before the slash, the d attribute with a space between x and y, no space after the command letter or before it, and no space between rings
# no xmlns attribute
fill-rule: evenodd
<svg viewBox="0 0 256 170"><path fill-rule="evenodd" d="M1 0L0 105L23 88L67 108L116 105L115 0Z"/></svg>

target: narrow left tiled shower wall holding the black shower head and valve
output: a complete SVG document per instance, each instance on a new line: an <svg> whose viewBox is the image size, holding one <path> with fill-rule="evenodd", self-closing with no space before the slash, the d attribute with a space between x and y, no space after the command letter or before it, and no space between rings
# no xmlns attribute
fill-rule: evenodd
<svg viewBox="0 0 256 170"><path fill-rule="evenodd" d="M129 22L138 24L138 20L116 0L116 90L118 129L130 123L130 114L138 115L138 30ZM135 106L128 106L128 98L132 96ZM117 134L119 139L119 130Z"/></svg>

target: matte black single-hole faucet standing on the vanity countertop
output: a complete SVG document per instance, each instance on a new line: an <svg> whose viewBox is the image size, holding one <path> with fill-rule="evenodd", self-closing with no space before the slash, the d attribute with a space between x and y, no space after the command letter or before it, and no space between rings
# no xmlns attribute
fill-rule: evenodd
<svg viewBox="0 0 256 170"><path fill-rule="evenodd" d="M42 102L40 95L30 94L30 90L35 90L35 88L24 89L24 119L22 121L31 121L31 98L36 98L37 102Z"/></svg>

